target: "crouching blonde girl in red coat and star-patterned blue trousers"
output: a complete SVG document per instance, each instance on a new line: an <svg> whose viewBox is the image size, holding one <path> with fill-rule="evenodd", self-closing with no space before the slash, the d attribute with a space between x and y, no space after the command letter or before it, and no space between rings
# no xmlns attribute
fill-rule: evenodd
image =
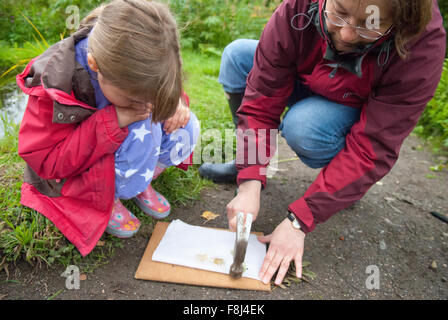
<svg viewBox="0 0 448 320"><path fill-rule="evenodd" d="M17 77L29 95L19 132L27 163L21 203L50 219L83 256L104 231L122 238L138 231L120 199L157 219L170 213L151 180L168 166L186 169L181 163L199 135L179 51L165 5L114 0Z"/></svg>

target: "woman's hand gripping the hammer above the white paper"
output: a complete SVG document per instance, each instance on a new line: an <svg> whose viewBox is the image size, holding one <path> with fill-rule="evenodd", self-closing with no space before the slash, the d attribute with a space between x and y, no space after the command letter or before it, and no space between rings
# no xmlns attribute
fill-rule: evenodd
<svg viewBox="0 0 448 320"><path fill-rule="evenodd" d="M260 210L261 181L250 180L238 187L238 194L227 204L227 219L229 228L236 231L236 217L238 212L252 213L255 221Z"/></svg>

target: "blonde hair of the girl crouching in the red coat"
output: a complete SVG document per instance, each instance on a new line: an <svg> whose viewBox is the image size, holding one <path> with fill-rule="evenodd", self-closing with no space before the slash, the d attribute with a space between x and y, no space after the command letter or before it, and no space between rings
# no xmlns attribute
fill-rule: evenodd
<svg viewBox="0 0 448 320"><path fill-rule="evenodd" d="M114 0L81 21L93 27L89 52L112 85L154 105L152 121L176 111L182 94L182 60L176 21L165 4Z"/></svg>

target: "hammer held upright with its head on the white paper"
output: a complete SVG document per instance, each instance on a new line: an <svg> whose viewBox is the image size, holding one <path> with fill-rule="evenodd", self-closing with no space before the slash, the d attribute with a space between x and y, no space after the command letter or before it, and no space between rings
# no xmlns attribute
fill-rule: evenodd
<svg viewBox="0 0 448 320"><path fill-rule="evenodd" d="M230 267L230 276L232 278L241 278L244 272L244 258L246 257L247 244L249 242L250 228L252 226L252 214L239 212L237 215L235 249L233 256L233 264Z"/></svg>

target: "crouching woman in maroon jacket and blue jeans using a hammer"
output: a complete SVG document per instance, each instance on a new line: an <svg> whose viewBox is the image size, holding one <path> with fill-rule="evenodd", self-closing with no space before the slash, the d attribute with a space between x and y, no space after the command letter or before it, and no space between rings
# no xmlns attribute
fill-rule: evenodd
<svg viewBox="0 0 448 320"><path fill-rule="evenodd" d="M260 129L279 128L305 164L323 167L288 206L288 218L260 238L270 242L264 282L278 269L275 283L281 283L292 260L300 277L305 234L390 171L434 94L445 45L433 0L286 0L258 43L238 40L226 48L220 82L231 109L238 109L238 94L244 96L236 112L243 134L236 166L204 164L200 172L237 180L238 194L227 205L230 227L239 211L258 215L268 160L249 163L247 151L255 144L272 156L274 143ZM247 129L255 134L245 135Z"/></svg>

